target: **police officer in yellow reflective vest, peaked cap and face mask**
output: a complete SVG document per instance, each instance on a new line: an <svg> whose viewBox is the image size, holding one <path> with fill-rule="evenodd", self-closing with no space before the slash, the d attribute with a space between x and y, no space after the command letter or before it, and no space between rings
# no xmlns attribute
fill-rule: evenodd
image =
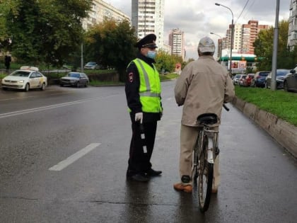
<svg viewBox="0 0 297 223"><path fill-rule="evenodd" d="M161 83L154 66L156 35L149 34L136 42L136 59L127 67L125 93L132 121L132 139L129 150L127 179L146 182L162 171L151 168L151 154L156 137L157 121L161 120ZM143 126L143 132L141 125ZM144 139L141 139L144 133Z"/></svg>

